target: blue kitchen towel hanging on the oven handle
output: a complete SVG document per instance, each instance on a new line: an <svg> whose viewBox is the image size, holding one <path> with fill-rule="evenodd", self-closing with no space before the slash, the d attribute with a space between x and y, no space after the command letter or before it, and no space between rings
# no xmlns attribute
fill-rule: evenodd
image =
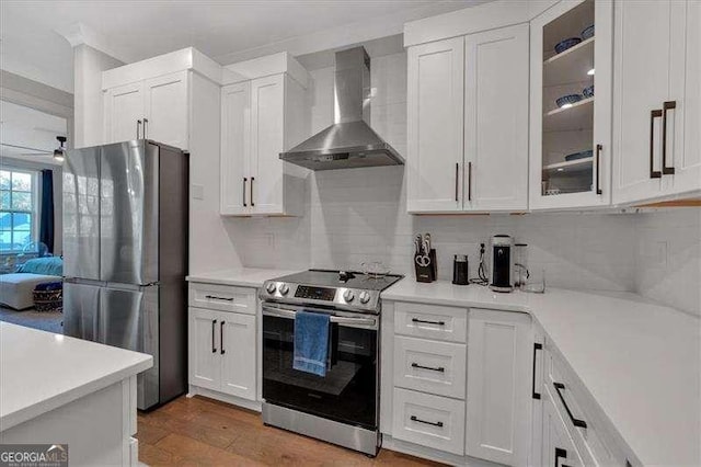
<svg viewBox="0 0 701 467"><path fill-rule="evenodd" d="M318 376L326 376L330 322L329 315L297 311L292 368Z"/></svg>

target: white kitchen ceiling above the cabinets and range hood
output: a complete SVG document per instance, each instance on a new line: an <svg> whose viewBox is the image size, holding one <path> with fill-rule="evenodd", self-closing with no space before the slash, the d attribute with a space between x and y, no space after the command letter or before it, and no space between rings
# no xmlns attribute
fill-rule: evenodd
<svg viewBox="0 0 701 467"><path fill-rule="evenodd" d="M72 90L70 47L53 31L81 22L128 61L194 46L229 64L243 50L382 18L418 19L484 0L2 0L2 68ZM353 27L350 27L353 30ZM397 34L388 32L387 35ZM41 44L45 44L44 47ZM23 46L30 48L23 50ZM41 61L22 65L22 59ZM120 57L117 57L120 58ZM33 70L38 68L38 70ZM5 68L7 69L7 68ZM20 71L18 71L20 70ZM21 70L24 70L22 72ZM51 70L54 72L51 73ZM57 83L59 86L57 86ZM50 84L50 83L49 83ZM67 89L71 88L71 89Z"/></svg>

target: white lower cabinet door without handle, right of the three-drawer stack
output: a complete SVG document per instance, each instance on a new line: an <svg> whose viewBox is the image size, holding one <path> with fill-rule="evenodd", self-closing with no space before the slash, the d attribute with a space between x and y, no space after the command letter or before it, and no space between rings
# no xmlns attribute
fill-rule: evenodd
<svg viewBox="0 0 701 467"><path fill-rule="evenodd" d="M530 316L471 308L469 328L467 454L526 465L530 445Z"/></svg>

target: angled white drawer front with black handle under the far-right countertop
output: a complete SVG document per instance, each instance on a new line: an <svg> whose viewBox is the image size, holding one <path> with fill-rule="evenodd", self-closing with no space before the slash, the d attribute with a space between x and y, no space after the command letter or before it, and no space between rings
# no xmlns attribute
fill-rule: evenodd
<svg viewBox="0 0 701 467"><path fill-rule="evenodd" d="M547 366L547 389L585 464L625 466L625 454L611 438L596 402L552 346Z"/></svg>

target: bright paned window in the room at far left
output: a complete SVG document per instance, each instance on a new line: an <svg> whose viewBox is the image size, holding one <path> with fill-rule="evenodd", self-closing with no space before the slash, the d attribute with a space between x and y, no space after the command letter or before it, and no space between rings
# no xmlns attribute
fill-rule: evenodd
<svg viewBox="0 0 701 467"><path fill-rule="evenodd" d="M23 251L36 228L36 172L0 170L0 253Z"/></svg>

